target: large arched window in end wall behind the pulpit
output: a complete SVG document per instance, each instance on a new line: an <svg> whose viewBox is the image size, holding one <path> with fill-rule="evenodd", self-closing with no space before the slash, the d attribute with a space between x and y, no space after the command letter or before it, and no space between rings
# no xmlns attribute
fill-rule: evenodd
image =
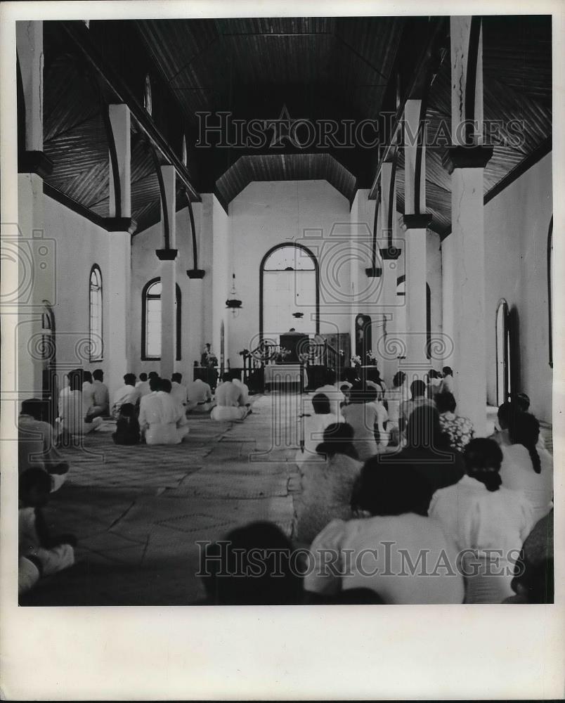
<svg viewBox="0 0 565 703"><path fill-rule="evenodd" d="M318 261L298 244L269 250L259 270L259 334L278 336L290 328L304 334L320 331Z"/></svg>

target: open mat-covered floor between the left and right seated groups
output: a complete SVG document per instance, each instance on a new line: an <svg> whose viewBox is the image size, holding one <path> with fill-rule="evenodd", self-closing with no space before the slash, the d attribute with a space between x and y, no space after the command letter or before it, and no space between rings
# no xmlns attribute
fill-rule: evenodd
<svg viewBox="0 0 565 703"><path fill-rule="evenodd" d="M204 597L197 541L252 520L291 536L297 434L286 428L298 402L273 392L243 423L190 417L178 446L115 446L108 423L63 450L71 473L45 515L54 534L77 536L77 562L21 604L188 605Z"/></svg>

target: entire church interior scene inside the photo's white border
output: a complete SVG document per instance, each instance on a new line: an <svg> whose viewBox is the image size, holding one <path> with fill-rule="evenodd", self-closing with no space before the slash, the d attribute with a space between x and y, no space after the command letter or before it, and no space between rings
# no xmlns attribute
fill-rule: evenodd
<svg viewBox="0 0 565 703"><path fill-rule="evenodd" d="M16 51L20 605L551 602L551 16ZM390 539L530 580L294 559Z"/></svg>

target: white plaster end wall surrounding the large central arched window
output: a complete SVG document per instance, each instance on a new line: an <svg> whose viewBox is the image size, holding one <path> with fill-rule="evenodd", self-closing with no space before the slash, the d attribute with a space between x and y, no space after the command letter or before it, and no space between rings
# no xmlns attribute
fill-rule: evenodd
<svg viewBox="0 0 565 703"><path fill-rule="evenodd" d="M230 238L238 293L244 309L230 320L232 366L259 333L259 268L275 245L301 243L320 263L320 332L350 331L349 202L327 181L250 183L229 206ZM216 265L216 256L214 256ZM331 280L330 280L331 274ZM304 314L313 310L304 309ZM292 320L281 321L284 332ZM267 331L267 330L266 330ZM273 331L273 330L271 330Z"/></svg>

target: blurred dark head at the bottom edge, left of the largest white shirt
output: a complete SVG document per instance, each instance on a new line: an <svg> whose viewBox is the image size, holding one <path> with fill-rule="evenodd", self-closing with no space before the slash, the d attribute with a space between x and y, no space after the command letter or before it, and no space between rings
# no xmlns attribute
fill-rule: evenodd
<svg viewBox="0 0 565 703"><path fill-rule="evenodd" d="M251 522L207 544L199 576L210 605L299 605L302 578L290 539L272 522Z"/></svg>

